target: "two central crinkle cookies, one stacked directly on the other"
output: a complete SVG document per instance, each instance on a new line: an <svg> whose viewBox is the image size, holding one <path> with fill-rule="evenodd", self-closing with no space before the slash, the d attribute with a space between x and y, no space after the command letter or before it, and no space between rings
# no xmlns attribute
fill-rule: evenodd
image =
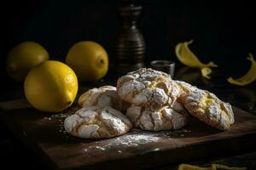
<svg viewBox="0 0 256 170"><path fill-rule="evenodd" d="M177 102L180 88L170 75L152 69L139 69L120 77L120 99L131 106L126 111L133 127L160 131L178 129L186 123L186 110Z"/></svg>

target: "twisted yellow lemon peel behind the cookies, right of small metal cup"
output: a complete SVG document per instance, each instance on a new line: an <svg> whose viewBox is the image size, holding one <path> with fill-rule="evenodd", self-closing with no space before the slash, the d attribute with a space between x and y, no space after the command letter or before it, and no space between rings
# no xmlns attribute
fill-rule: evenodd
<svg viewBox="0 0 256 170"><path fill-rule="evenodd" d="M214 64L210 61L207 64L202 63L196 55L189 49L189 44L191 44L193 40L189 42L179 42L175 48L175 53L177 55L177 59L183 65L188 65L190 67L195 67L201 69L201 75L210 79L209 74L212 72L210 67L218 67L218 65Z"/></svg>

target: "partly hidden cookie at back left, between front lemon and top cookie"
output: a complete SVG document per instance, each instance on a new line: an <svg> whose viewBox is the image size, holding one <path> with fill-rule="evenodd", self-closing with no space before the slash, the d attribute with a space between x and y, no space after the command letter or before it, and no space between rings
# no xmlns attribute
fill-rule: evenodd
<svg viewBox="0 0 256 170"><path fill-rule="evenodd" d="M79 105L84 106L99 106L113 107L118 111L122 110L122 101L113 86L102 86L100 88L91 88L79 97Z"/></svg>

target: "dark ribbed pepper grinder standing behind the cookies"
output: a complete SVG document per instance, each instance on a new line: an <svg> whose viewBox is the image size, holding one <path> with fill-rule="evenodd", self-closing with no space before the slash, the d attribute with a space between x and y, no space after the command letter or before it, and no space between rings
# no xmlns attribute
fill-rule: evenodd
<svg viewBox="0 0 256 170"><path fill-rule="evenodd" d="M137 29L137 17L142 6L123 4L118 8L121 30L116 44L116 73L125 74L144 67L145 41L141 31Z"/></svg>

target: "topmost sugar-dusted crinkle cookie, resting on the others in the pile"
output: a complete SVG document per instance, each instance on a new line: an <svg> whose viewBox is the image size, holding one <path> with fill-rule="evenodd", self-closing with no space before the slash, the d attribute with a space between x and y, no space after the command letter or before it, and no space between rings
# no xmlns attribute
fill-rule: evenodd
<svg viewBox="0 0 256 170"><path fill-rule="evenodd" d="M142 68L120 77L117 93L126 102L154 110L163 105L173 105L179 95L179 88L170 75Z"/></svg>

